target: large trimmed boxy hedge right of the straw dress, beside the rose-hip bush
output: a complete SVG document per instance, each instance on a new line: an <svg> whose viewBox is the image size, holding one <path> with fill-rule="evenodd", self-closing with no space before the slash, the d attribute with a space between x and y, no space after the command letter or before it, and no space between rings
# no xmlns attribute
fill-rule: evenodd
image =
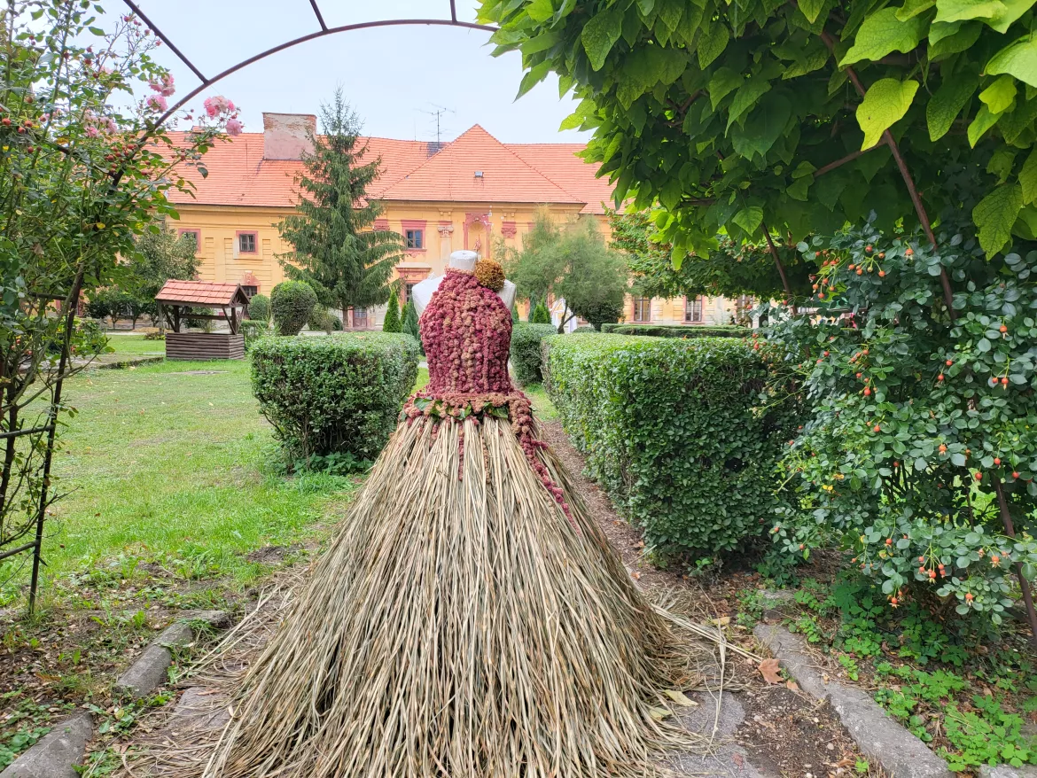
<svg viewBox="0 0 1037 778"><path fill-rule="evenodd" d="M775 463L797 422L789 400L766 396L769 372L749 343L609 334L544 343L566 433L655 553L713 555L765 534Z"/></svg>

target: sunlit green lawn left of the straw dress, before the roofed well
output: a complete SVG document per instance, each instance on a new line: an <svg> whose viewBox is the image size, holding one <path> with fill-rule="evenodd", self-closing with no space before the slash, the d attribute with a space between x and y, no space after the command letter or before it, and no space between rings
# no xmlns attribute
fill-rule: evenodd
<svg viewBox="0 0 1037 778"><path fill-rule="evenodd" d="M300 540L339 516L355 489L346 478L276 472L244 360L89 370L65 396L79 413L55 460L56 488L68 494L48 523L49 576L125 553L246 580L258 565L245 552Z"/></svg>

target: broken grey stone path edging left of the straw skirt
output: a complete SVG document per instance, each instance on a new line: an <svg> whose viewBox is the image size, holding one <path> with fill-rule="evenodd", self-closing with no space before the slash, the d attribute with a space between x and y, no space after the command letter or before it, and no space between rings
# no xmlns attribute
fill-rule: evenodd
<svg viewBox="0 0 1037 778"><path fill-rule="evenodd" d="M113 686L116 695L145 697L162 686L173 655L169 647L185 646L195 638L191 621L204 621L222 629L230 626L225 611L184 611L179 619L162 631L130 669ZM86 744L93 738L93 716L78 713L54 726L32 748L0 773L0 778L78 778L75 766L83 760Z"/></svg>

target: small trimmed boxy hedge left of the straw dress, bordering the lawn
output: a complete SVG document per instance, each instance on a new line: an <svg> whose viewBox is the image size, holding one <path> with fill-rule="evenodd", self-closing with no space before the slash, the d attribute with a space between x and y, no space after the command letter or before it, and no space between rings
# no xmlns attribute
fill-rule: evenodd
<svg viewBox="0 0 1037 778"><path fill-rule="evenodd" d="M252 391L289 461L373 460L418 376L418 343L398 333L268 337L250 355Z"/></svg>

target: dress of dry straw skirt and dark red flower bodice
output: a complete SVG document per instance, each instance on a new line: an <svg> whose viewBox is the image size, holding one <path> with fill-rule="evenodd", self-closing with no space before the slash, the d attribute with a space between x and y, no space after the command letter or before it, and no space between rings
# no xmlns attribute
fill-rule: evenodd
<svg viewBox="0 0 1037 778"><path fill-rule="evenodd" d="M682 660L508 377L500 267L447 270L405 404L205 775L652 772Z"/></svg>

